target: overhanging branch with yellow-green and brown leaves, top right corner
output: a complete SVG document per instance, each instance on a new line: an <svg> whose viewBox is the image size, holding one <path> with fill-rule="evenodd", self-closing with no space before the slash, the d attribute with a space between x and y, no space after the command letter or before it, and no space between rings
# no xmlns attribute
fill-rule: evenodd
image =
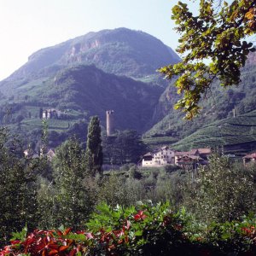
<svg viewBox="0 0 256 256"><path fill-rule="evenodd" d="M182 61L161 67L167 79L178 76L175 86L181 99L174 108L182 109L186 119L200 112L201 97L218 79L224 87L240 82L240 69L249 52L255 51L250 36L256 32L255 0L200 0L194 15L186 3L172 8L172 20L181 34L177 52Z"/></svg>

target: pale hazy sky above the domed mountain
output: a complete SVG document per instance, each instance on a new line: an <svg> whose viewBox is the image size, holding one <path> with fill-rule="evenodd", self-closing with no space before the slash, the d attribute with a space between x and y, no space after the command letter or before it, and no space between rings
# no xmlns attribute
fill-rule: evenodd
<svg viewBox="0 0 256 256"><path fill-rule="evenodd" d="M183 1L183 2L188 2ZM0 80L44 47L102 29L148 32L176 49L177 0L0 0ZM193 2L190 3L193 6Z"/></svg>

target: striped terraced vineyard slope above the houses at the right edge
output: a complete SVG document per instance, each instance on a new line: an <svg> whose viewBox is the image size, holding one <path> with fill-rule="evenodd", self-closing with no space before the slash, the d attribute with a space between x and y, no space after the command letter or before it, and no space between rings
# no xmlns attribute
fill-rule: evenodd
<svg viewBox="0 0 256 256"><path fill-rule="evenodd" d="M255 143L256 146L256 111L207 125L173 144L172 148L189 150L239 145L240 143Z"/></svg>

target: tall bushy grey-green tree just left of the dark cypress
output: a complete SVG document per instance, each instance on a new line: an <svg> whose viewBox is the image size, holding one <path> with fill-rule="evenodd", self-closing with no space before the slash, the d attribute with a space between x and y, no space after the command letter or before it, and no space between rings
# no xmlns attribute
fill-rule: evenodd
<svg viewBox="0 0 256 256"><path fill-rule="evenodd" d="M54 218L51 225L79 227L93 205L90 197L90 177L86 174L85 154L79 142L71 138L57 148L53 165L55 191L52 197L49 197L50 216ZM45 200L42 194L41 199ZM46 223L47 221L45 220Z"/></svg>

